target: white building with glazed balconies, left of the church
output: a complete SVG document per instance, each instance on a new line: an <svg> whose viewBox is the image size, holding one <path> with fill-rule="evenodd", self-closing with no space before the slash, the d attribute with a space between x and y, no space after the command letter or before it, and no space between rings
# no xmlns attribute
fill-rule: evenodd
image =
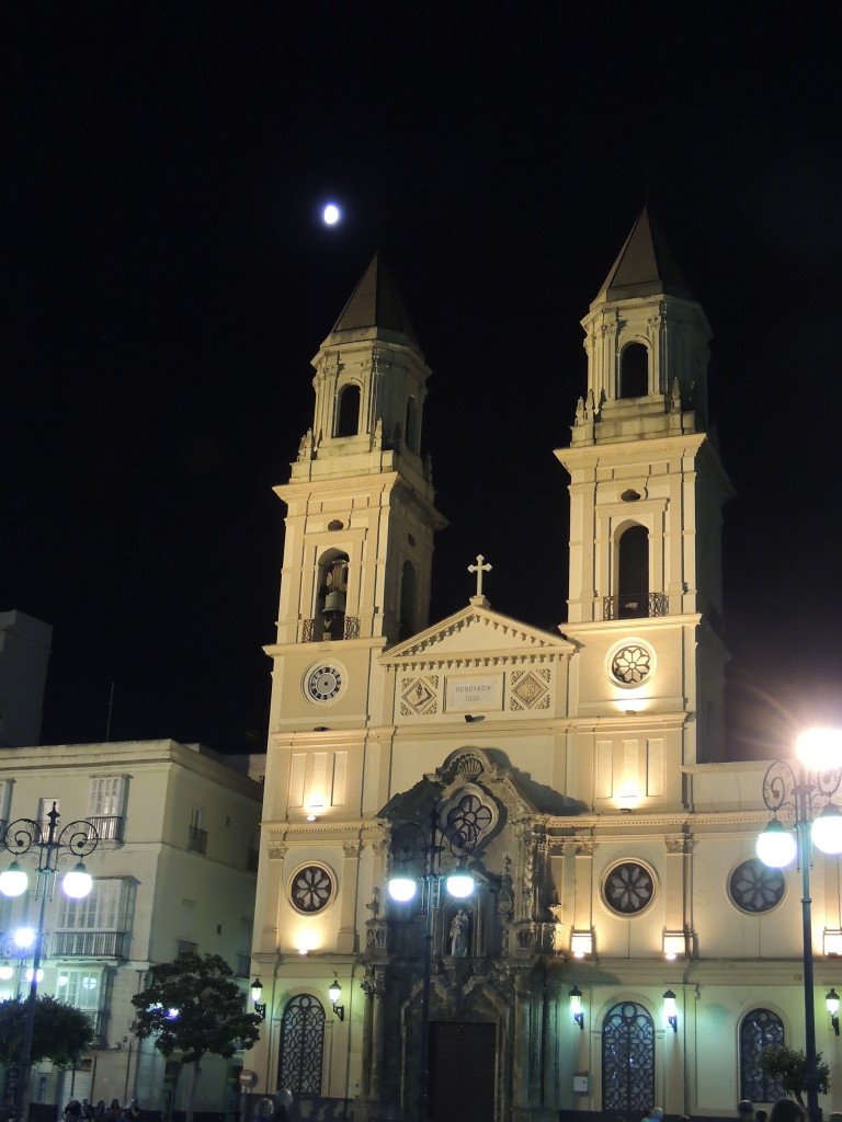
<svg viewBox="0 0 842 1122"><path fill-rule="evenodd" d="M85 857L91 895L73 902L56 889L47 900L39 985L90 1013L95 1046L76 1072L36 1066L34 1103L63 1105L72 1087L94 1102L136 1096L147 1112L181 1106L181 1089L173 1102L174 1067L152 1041L132 1036L131 996L152 964L183 949L221 955L242 977L245 994L262 795L248 763L173 741L0 751L3 833L18 818L44 822L55 803L60 828L86 819L100 837ZM7 867L11 858L0 852L0 861ZM26 858L20 864L29 867ZM0 981L3 999L26 991L27 959L16 957L12 935L37 919L38 902L31 892L0 900L0 960L11 973ZM241 1066L241 1057L209 1057L198 1110L232 1109Z"/></svg>

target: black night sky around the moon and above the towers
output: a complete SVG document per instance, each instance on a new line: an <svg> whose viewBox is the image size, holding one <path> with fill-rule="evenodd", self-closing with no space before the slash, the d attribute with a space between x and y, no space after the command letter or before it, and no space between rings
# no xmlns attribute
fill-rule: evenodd
<svg viewBox="0 0 842 1122"><path fill-rule="evenodd" d="M0 610L54 627L45 743L103 739L113 683L112 739L263 748L271 488L377 248L433 371L432 618L482 552L494 609L562 623L552 450L644 202L714 332L730 752L842 719L832 11L6 6Z"/></svg>

